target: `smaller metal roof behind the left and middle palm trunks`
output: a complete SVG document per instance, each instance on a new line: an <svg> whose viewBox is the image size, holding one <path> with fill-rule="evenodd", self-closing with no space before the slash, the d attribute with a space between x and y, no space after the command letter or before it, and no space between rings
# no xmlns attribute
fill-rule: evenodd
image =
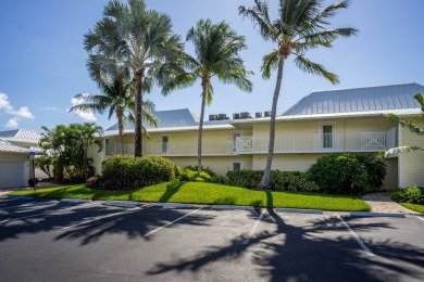
<svg viewBox="0 0 424 282"><path fill-rule="evenodd" d="M170 110L170 111L157 111L152 112L152 115L158 118L158 127L150 126L146 121L142 125L148 131L162 131L162 130L184 130L184 129L198 129L200 118L192 113L189 108ZM125 130L134 130L133 123L125 124ZM232 127L228 120L204 120L203 128L225 128ZM105 131L119 130L117 124L108 128Z"/></svg>

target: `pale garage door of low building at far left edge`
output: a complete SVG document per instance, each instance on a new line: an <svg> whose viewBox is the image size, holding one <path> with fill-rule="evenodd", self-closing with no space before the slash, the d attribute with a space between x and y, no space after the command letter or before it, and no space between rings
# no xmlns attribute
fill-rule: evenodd
<svg viewBox="0 0 424 282"><path fill-rule="evenodd" d="M0 162L0 188L27 187L25 162Z"/></svg>

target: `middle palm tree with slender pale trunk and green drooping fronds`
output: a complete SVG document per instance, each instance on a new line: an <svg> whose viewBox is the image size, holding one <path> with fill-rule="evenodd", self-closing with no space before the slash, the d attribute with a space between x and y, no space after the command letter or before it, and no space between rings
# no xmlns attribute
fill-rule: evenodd
<svg viewBox="0 0 424 282"><path fill-rule="evenodd" d="M225 22L212 24L210 20L200 20L188 30L187 41L192 42L196 56L187 57L186 66L189 70L179 78L183 80L183 87L191 86L199 79L202 88L198 133L198 171L200 172L204 106L212 102L212 78L216 77L221 82L234 84L240 90L251 92L252 82L247 76L252 72L245 67L239 56L239 52L247 49L245 37L238 36Z"/></svg>

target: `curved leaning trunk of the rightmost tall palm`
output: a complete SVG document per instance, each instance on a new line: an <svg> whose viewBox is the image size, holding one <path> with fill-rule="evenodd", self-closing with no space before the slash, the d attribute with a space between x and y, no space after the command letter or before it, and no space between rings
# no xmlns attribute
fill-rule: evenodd
<svg viewBox="0 0 424 282"><path fill-rule="evenodd" d="M266 166L265 166L265 170L263 171L262 180L258 185L259 189L270 188L271 166L272 166L273 156L274 156L275 117L276 117L276 112L277 112L279 90L282 88L282 81L283 81L283 68L284 68L284 59L282 57L282 59L279 59L279 62L278 62L277 81L275 84L273 105L271 108L270 144L267 148Z"/></svg>

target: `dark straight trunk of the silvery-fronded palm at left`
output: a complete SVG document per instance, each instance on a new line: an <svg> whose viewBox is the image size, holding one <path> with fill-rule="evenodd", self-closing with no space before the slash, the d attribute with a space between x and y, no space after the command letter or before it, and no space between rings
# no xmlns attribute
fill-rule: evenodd
<svg viewBox="0 0 424 282"><path fill-rule="evenodd" d="M136 115L136 125L135 125L135 140L134 140L134 156L141 156L142 154L142 118L141 118L141 104L142 104L142 93L141 93L141 79L142 79L144 69L138 69L134 77L134 84L136 85L136 95L135 95L135 115Z"/></svg>

